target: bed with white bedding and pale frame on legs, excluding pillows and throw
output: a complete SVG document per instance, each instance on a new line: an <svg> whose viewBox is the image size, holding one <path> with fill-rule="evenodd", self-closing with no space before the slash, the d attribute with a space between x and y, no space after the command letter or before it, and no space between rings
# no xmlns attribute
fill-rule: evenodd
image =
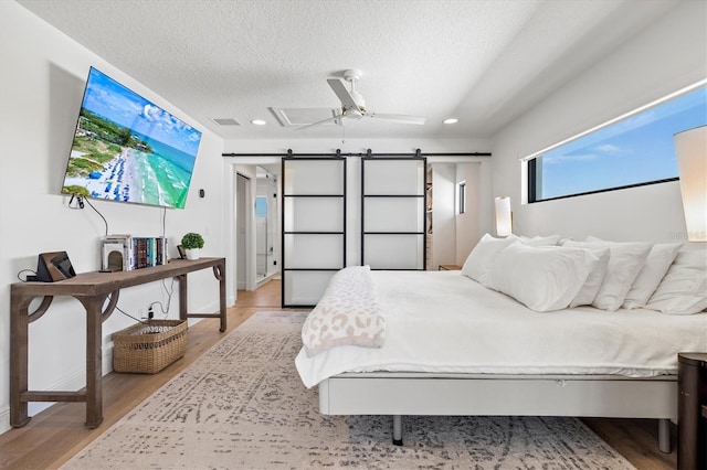
<svg viewBox="0 0 707 470"><path fill-rule="evenodd" d="M669 452L677 353L707 351L707 313L538 312L462 271L370 271L370 282L384 341L303 348L295 361L320 413L390 415L398 445L404 415L654 418Z"/></svg>

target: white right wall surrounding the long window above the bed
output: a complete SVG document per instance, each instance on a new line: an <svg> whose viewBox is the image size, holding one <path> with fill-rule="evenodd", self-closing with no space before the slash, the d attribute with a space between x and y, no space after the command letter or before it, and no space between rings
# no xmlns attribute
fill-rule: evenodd
<svg viewBox="0 0 707 470"><path fill-rule="evenodd" d="M677 182L521 205L518 159L705 78L706 18L707 2L680 2L497 133L493 192L510 195L514 232L618 241L686 238Z"/></svg>

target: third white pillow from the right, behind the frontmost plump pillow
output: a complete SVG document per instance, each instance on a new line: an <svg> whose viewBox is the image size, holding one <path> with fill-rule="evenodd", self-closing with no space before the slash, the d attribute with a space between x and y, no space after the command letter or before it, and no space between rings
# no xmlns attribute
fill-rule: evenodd
<svg viewBox="0 0 707 470"><path fill-rule="evenodd" d="M633 281L643 268L652 245L643 242L564 242L563 246L578 248L609 248L606 276L599 288L592 306L598 309L615 311L623 303Z"/></svg>

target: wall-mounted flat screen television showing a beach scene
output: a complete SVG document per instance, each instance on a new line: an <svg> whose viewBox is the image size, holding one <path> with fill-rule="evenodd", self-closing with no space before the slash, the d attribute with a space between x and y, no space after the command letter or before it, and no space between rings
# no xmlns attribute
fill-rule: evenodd
<svg viewBox="0 0 707 470"><path fill-rule="evenodd" d="M63 194L183 209L201 132L91 67Z"/></svg>

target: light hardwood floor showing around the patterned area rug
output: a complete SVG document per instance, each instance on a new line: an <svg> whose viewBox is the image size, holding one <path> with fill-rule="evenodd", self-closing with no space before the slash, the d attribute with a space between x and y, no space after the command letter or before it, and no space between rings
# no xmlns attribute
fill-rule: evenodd
<svg viewBox="0 0 707 470"><path fill-rule="evenodd" d="M204 319L191 327L184 357L159 374L106 375L103 383L104 421L97 429L84 427L84 404L61 403L34 416L23 428L0 435L0 468L61 467L253 313L279 308L279 295L281 281L276 279L255 291L239 291L238 302L228 311L228 331L219 332L214 319ZM592 418L584 423L641 470L676 468L675 450L665 455L657 449L655 420Z"/></svg>

